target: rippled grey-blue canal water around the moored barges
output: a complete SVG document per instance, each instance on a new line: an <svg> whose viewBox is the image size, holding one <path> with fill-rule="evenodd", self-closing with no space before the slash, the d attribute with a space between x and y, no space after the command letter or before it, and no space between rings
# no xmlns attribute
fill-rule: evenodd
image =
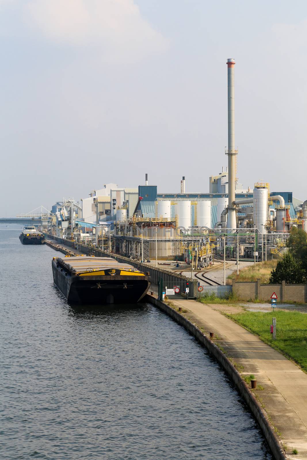
<svg viewBox="0 0 307 460"><path fill-rule="evenodd" d="M2 459L262 460L226 375L152 305L67 305L47 246L0 230Z"/></svg>

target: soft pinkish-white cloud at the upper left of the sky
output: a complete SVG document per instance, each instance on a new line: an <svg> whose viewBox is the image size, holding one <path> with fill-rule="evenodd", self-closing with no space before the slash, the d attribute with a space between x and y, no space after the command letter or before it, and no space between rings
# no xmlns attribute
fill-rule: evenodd
<svg viewBox="0 0 307 460"><path fill-rule="evenodd" d="M31 26L49 40L100 46L108 60L131 60L168 48L168 40L141 16L133 0L31 0L26 10Z"/></svg>

